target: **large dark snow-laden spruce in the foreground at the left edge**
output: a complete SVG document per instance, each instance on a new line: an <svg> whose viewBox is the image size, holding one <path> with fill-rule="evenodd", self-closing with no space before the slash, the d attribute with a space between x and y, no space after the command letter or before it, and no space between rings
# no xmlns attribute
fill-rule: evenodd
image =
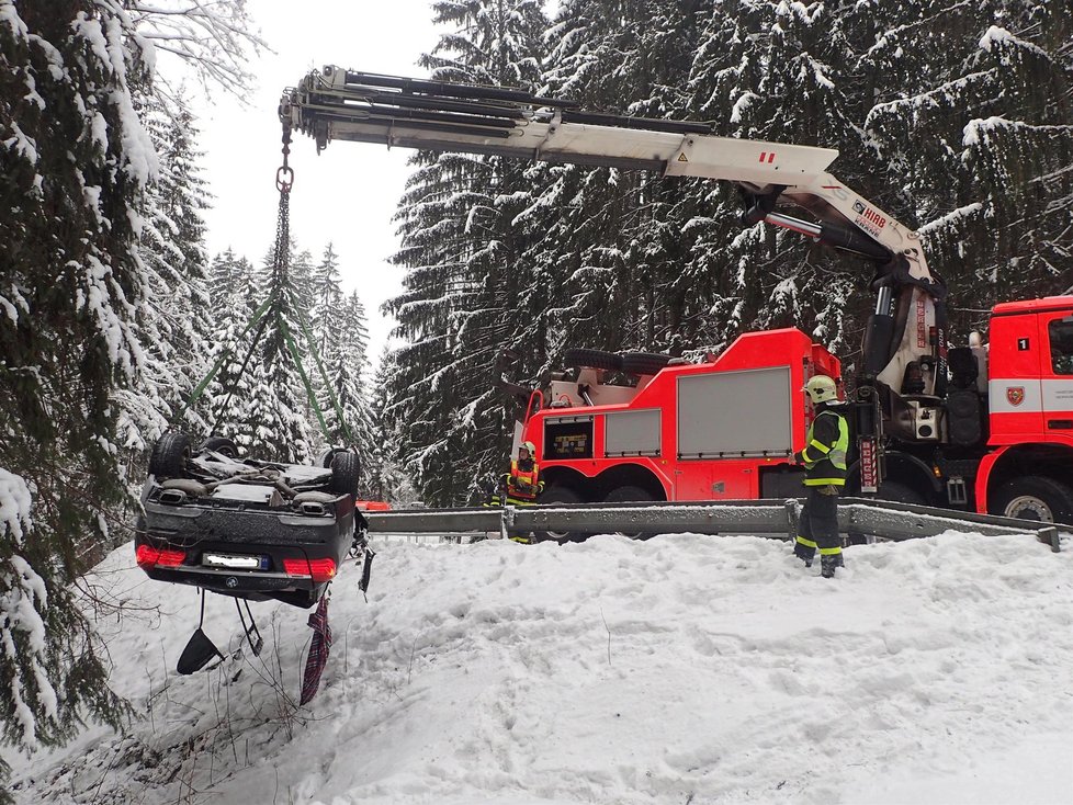
<svg viewBox="0 0 1073 805"><path fill-rule="evenodd" d="M122 711L71 585L124 500L112 396L143 356L128 34L109 0L0 0L0 721L24 747Z"/></svg>

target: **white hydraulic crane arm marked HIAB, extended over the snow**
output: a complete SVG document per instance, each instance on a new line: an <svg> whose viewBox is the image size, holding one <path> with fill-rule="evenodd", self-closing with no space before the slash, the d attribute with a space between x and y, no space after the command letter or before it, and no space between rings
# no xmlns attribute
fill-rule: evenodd
<svg viewBox="0 0 1073 805"><path fill-rule="evenodd" d="M745 197L743 224L782 226L877 265L866 382L901 392L906 366L923 359L930 369L919 393L939 393L942 282L929 271L917 233L826 172L837 150L716 137L702 123L590 113L520 90L337 67L286 90L280 118L314 137L318 150L346 139L735 182ZM777 212L787 205L815 220Z"/></svg>

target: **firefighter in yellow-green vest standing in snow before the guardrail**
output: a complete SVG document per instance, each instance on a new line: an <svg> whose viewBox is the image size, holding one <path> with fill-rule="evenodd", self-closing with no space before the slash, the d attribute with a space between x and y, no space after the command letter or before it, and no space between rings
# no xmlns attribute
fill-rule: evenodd
<svg viewBox="0 0 1073 805"><path fill-rule="evenodd" d="M849 421L831 377L816 375L801 390L812 400L815 419L805 434L804 449L793 454L794 461L804 465L804 485L809 490L798 521L793 554L805 567L812 567L818 549L821 575L829 579L844 565L838 536L838 494L846 486Z"/></svg>

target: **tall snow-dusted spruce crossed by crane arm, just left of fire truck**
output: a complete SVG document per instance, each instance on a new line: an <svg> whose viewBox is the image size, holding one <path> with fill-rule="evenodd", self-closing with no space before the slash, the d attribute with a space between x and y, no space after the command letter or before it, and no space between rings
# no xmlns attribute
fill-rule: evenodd
<svg viewBox="0 0 1073 805"><path fill-rule="evenodd" d="M539 83L545 26L536 0L433 3L449 26L422 59L437 79L520 87ZM501 469L510 432L495 392L496 353L539 338L534 313L519 305L526 245L512 225L527 204L524 166L472 155L419 155L397 219L407 269L388 303L400 348L388 378L393 406L414 420L402 434L407 468L430 503L482 495L477 479Z"/></svg>

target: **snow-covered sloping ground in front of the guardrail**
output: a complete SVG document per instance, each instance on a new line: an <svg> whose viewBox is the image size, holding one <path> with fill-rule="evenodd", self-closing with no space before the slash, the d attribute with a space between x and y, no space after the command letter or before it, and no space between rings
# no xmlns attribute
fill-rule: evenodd
<svg viewBox="0 0 1073 805"><path fill-rule="evenodd" d="M336 582L320 693L306 612L212 671L174 665L194 590L127 546L94 583L128 734L11 757L26 803L1073 803L1073 544L946 534L784 543L380 546ZM206 632L237 650L233 602ZM282 685L280 682L282 681Z"/></svg>

